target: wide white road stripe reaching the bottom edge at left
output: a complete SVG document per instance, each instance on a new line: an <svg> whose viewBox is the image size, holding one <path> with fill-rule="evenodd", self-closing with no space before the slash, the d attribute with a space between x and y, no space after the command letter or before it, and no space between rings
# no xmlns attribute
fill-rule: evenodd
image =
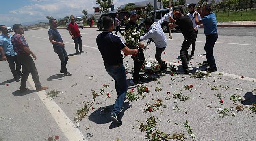
<svg viewBox="0 0 256 141"><path fill-rule="evenodd" d="M28 77L28 83L30 83L33 89L36 89L31 75ZM74 125L74 123L69 119L69 117L67 117L63 110L61 110L61 108L55 103L55 101L46 96L47 93L45 90L35 93L45 104L45 107L49 110L53 119L56 121L59 128L69 141L87 141L85 136L83 136L80 130L76 128L76 125Z"/></svg>

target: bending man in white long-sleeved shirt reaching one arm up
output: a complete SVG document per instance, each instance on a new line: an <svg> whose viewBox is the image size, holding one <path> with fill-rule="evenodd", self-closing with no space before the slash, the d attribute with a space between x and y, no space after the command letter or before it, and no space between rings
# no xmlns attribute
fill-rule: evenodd
<svg viewBox="0 0 256 141"><path fill-rule="evenodd" d="M165 14L159 21L153 22L150 18L146 18L144 20L144 24L146 29L148 30L147 34L144 36L141 36L141 41L147 40L151 38L151 40L156 45L156 61L161 65L161 71L165 71L167 69L167 64L161 59L161 54L165 50L165 47L167 46L166 36L163 32L163 29L161 27L161 24L167 20L172 13L177 13L177 11L171 11L167 14Z"/></svg>

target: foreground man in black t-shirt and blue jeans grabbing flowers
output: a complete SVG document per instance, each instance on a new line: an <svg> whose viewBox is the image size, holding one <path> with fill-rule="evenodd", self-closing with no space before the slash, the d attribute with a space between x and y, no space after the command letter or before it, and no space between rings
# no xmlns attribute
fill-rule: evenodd
<svg viewBox="0 0 256 141"><path fill-rule="evenodd" d="M117 123L122 124L119 116L127 92L126 72L122 60L122 50L125 54L137 54L138 49L129 49L122 39L113 34L113 18L105 16L103 18L104 31L97 36L97 45L104 61L104 66L108 74L115 80L115 90L117 99L110 117Z"/></svg>

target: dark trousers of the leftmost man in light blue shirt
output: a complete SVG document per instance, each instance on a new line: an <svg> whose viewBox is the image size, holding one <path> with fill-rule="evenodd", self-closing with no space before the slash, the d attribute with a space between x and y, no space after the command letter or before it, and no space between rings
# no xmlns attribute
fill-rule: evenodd
<svg viewBox="0 0 256 141"><path fill-rule="evenodd" d="M13 74L13 77L15 79L19 79L19 76L22 76L22 73L20 71L21 65L17 60L17 55L11 56L11 55L6 54L5 56L7 58L8 63L9 63L9 67L11 69L11 73ZM16 69L15 69L15 63L14 62L16 63Z"/></svg>

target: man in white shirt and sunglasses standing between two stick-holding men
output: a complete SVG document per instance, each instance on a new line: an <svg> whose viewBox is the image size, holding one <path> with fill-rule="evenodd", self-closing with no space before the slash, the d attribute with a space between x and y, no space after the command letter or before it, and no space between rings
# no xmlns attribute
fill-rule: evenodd
<svg viewBox="0 0 256 141"><path fill-rule="evenodd" d="M192 20L192 23L193 23L193 27L195 29L195 32L196 32L196 39L197 39L197 33L198 33L198 28L200 27L200 25L197 25L195 23L195 17L194 17L194 14L195 14L195 4L189 4L188 5L188 8L189 8L189 13L187 13L187 16L189 16L189 18ZM198 19L201 20L201 16L200 14L198 14ZM193 57L194 56L194 52L195 52L195 47L196 47L196 40L195 42L192 43L192 50L191 50L191 55L189 55L189 57Z"/></svg>

